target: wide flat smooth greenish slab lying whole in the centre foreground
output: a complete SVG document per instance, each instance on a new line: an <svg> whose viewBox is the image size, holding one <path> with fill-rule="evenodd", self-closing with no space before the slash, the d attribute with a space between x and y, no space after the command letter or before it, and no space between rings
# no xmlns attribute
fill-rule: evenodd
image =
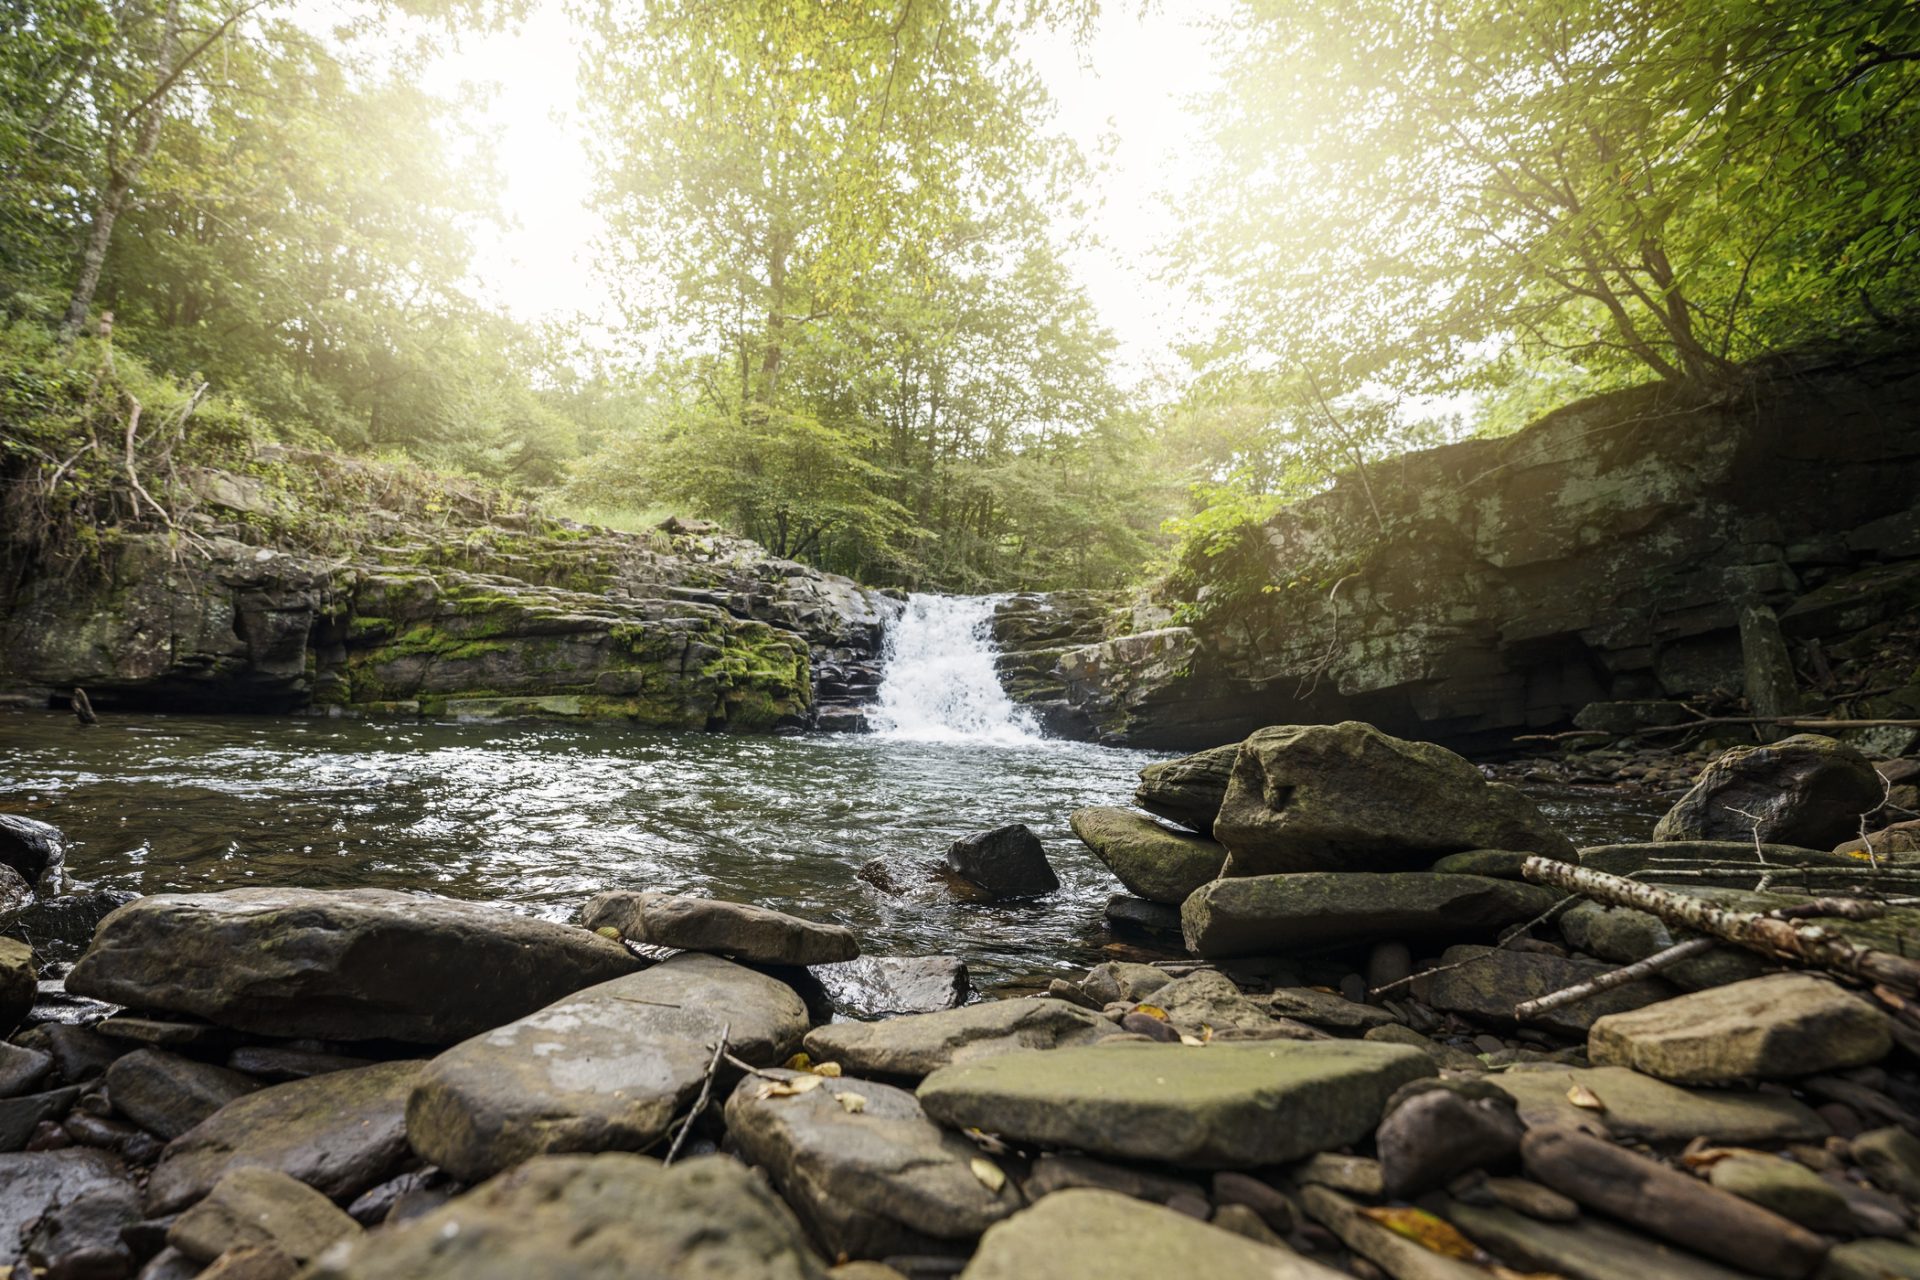
<svg viewBox="0 0 1920 1280"><path fill-rule="evenodd" d="M1432 1073L1417 1050L1363 1040L1116 1042L943 1067L920 1105L1016 1142L1244 1169L1361 1138L1396 1088Z"/></svg>

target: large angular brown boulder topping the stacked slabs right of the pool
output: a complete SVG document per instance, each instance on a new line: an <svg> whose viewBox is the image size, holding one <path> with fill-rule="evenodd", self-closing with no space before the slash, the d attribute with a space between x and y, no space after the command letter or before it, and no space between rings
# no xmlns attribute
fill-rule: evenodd
<svg viewBox="0 0 1920 1280"><path fill-rule="evenodd" d="M1407 871L1469 848L1574 858L1532 800L1432 743L1369 723L1261 729L1213 821L1235 875Z"/></svg>

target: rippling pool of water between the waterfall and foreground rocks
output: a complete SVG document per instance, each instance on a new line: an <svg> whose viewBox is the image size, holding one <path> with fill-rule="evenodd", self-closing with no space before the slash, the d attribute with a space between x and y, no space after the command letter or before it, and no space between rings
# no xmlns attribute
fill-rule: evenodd
<svg viewBox="0 0 1920 1280"><path fill-rule="evenodd" d="M1069 833L1158 756L1083 743L730 737L622 727L0 714L0 812L60 825L69 875L136 892L415 889L566 919L601 889L758 902L851 925L870 954L958 954L977 984L1069 969L1114 938L1119 885ZM1663 806L1542 793L1582 844ZM1062 889L956 900L925 864L1021 821ZM889 864L899 892L856 877Z"/></svg>

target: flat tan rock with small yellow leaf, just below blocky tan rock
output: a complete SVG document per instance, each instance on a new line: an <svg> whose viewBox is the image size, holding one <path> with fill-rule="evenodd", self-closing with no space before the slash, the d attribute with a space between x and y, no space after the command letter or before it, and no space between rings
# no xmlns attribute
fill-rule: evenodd
<svg viewBox="0 0 1920 1280"><path fill-rule="evenodd" d="M1503 1071L1488 1079L1513 1098L1528 1128L1592 1126L1622 1142L1713 1138L1728 1146L1818 1142L1830 1132L1807 1103L1782 1094L1688 1090L1626 1067ZM1599 1109L1574 1105L1571 1092L1597 1098Z"/></svg>

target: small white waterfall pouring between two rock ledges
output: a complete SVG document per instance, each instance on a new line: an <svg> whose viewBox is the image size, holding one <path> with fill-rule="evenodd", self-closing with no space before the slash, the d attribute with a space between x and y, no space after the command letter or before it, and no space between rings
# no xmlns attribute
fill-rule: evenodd
<svg viewBox="0 0 1920 1280"><path fill-rule="evenodd" d="M914 595L887 628L874 733L918 743L1041 741L993 670L991 595Z"/></svg>

